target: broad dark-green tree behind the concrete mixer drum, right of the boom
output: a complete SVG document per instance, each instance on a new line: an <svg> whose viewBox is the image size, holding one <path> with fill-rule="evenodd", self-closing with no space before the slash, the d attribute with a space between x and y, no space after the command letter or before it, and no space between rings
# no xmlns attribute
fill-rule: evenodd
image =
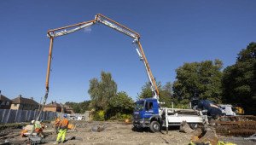
<svg viewBox="0 0 256 145"><path fill-rule="evenodd" d="M221 102L221 79L223 63L220 60L184 63L176 69L177 81L173 83L173 96L181 103L191 99L208 99Z"/></svg>

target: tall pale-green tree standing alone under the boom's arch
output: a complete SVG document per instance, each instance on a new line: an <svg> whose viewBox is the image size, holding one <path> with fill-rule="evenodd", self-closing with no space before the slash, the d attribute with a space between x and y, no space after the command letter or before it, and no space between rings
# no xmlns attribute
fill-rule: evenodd
<svg viewBox="0 0 256 145"><path fill-rule="evenodd" d="M97 78L90 79L90 99L92 107L97 110L108 110L108 101L115 96L117 92L117 84L113 81L111 73L102 71L101 80Z"/></svg>

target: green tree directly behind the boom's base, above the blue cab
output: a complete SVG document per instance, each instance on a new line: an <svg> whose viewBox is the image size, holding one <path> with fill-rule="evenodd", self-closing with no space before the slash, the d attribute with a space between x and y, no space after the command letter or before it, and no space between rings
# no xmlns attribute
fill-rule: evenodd
<svg viewBox="0 0 256 145"><path fill-rule="evenodd" d="M160 92L160 102L165 102L163 107L171 107L172 102L177 102L172 98L172 84L171 82L166 82L166 85L162 86L160 82L156 82L157 89ZM152 98L151 86L146 82L142 87L142 92L138 95L137 99Z"/></svg>

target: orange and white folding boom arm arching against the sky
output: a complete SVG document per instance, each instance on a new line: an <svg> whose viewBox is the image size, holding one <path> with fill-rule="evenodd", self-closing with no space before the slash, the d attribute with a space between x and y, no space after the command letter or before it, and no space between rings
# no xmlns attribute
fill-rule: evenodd
<svg viewBox="0 0 256 145"><path fill-rule="evenodd" d="M143 61L143 65L146 69L148 80L149 80L149 83L151 85L151 90L153 92L153 98L159 100L159 91L158 91L157 86L155 84L154 77L151 73L150 67L148 66L148 61L146 59L146 56L144 55L142 45L139 42L140 35L137 32L133 32L131 29L129 29L125 26L122 26L122 25L120 25L119 23L117 23L113 20L110 20L108 17L106 17L102 14L96 14L95 20L75 24L73 26L78 26L78 27L70 29L70 30L65 30L65 29L69 28L69 27L73 27L73 26L65 26L65 27L61 27L61 28L58 28L58 29L49 30L47 36L50 38L51 41L50 41L50 47L49 47L49 63L48 63L48 72L47 72L47 78L46 78L46 93L47 93L47 96L48 96L48 92L49 92L49 70L50 70L50 61L51 61L51 54L52 54L53 38L60 37L62 35L67 35L69 33L79 31L80 29L83 29L85 27L92 26L92 25L96 24L96 22L102 23L105 26L111 27L114 30L116 30L118 32L122 32L125 35L133 38L132 44L135 44L137 54L139 55L140 60ZM64 31L55 32L55 31L62 30L62 29L64 29Z"/></svg>

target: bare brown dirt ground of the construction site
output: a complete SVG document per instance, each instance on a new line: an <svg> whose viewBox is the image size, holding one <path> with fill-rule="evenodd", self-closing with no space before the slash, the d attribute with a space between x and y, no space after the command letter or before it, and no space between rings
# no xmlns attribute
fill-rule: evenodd
<svg viewBox="0 0 256 145"><path fill-rule="evenodd" d="M178 128L170 128L171 131L166 134L166 131L158 133L152 133L150 131L133 131L133 125L125 123L108 123L108 122L84 122L73 121L73 125L77 125L76 131L67 131L68 138L75 136L75 140L68 140L67 142L60 144L95 144L95 145L131 145L131 144L173 144L181 145L188 144L191 140L191 136L198 132L182 133ZM53 144L56 138L56 134L50 133L53 131L52 125L45 129L49 131L49 136L45 140L52 140L44 144ZM96 132L91 131L92 126L101 126L104 131ZM20 130L21 131L21 130ZM14 132L15 133L15 132ZM16 132L17 133L17 132ZM227 141L236 144L253 145L256 142L245 141L232 137L218 136L220 141ZM15 136L9 140L20 140L20 136ZM0 143L1 144L1 143Z"/></svg>

